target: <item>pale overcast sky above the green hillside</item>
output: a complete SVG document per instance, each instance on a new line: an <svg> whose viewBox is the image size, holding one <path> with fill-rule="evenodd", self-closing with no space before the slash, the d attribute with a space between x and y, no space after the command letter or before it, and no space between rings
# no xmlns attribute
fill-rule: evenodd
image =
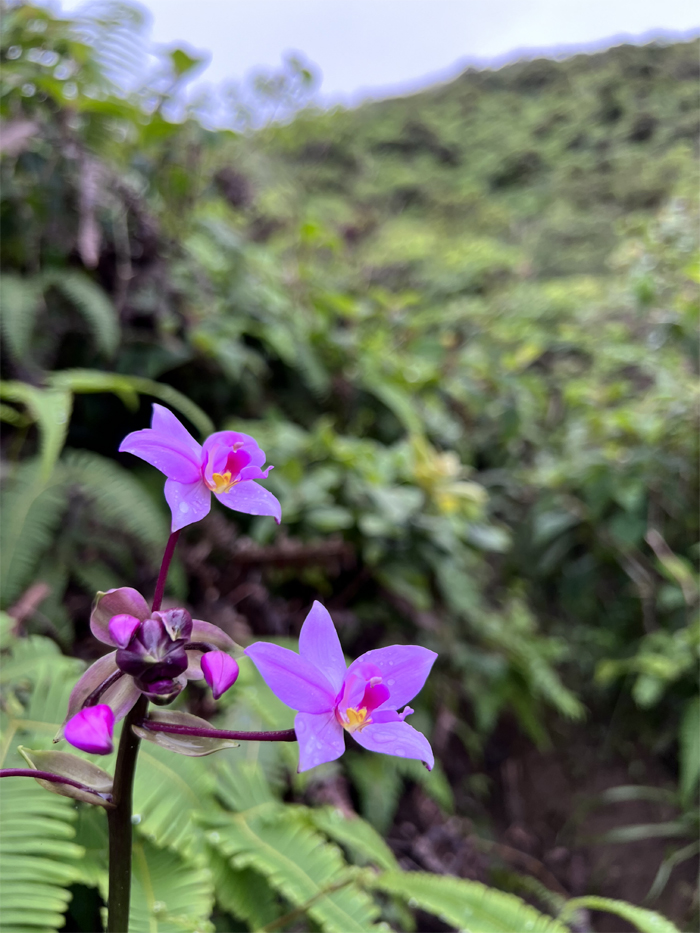
<svg viewBox="0 0 700 933"><path fill-rule="evenodd" d="M65 11L78 0L45 0ZM356 103L445 80L470 62L521 50L605 47L700 32L689 0L147 0L154 42L211 53L198 82L279 67L298 50L326 101ZM611 40L614 38L614 42Z"/></svg>

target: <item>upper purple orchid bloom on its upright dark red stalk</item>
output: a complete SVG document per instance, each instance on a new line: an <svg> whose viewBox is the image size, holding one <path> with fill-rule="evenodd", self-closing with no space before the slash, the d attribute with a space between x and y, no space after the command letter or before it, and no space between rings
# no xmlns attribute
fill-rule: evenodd
<svg viewBox="0 0 700 933"><path fill-rule="evenodd" d="M279 525L278 500L255 480L266 479L265 453L248 434L217 431L197 443L175 415L153 406L151 427L128 434L119 450L140 457L168 477L165 498L173 515L172 531L209 514L212 492L235 512L271 515Z"/></svg>

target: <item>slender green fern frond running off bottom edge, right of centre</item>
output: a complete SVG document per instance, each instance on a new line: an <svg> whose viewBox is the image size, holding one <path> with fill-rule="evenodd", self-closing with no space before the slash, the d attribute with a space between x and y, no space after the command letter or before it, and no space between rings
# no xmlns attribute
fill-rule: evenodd
<svg viewBox="0 0 700 933"><path fill-rule="evenodd" d="M372 887L394 894L466 933L569 933L558 920L539 913L519 897L478 881L425 872L385 872Z"/></svg>

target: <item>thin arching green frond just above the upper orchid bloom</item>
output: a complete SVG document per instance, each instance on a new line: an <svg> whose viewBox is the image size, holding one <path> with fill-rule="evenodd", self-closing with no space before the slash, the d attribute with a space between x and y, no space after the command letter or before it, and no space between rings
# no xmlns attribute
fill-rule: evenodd
<svg viewBox="0 0 700 933"><path fill-rule="evenodd" d="M138 407L138 395L150 395L176 409L200 431L207 435L214 432L214 425L199 405L195 405L182 392L172 386L140 376L123 376L120 373L103 373L96 369L63 369L52 373L49 384L67 389L76 394L90 392L114 392L128 408Z"/></svg>

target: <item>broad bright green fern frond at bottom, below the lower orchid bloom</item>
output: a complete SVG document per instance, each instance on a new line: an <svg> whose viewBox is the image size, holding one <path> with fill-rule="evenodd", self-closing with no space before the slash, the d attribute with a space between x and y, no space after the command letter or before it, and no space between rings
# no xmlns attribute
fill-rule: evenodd
<svg viewBox="0 0 700 933"><path fill-rule="evenodd" d="M347 865L336 846L303 825L294 811L277 803L244 813L203 820L207 840L229 860L232 868L253 868L293 906L305 912L328 933L374 929L376 904L350 881Z"/></svg>

